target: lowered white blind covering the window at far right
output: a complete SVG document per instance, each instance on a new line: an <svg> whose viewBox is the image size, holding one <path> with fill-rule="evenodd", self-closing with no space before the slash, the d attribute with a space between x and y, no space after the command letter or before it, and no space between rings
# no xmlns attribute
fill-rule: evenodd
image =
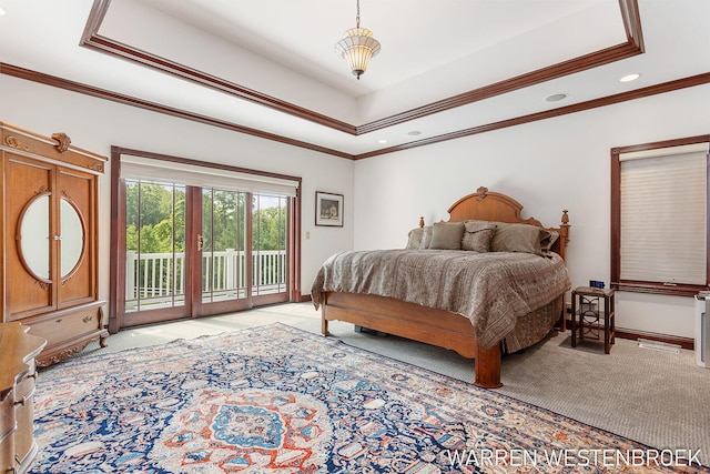
<svg viewBox="0 0 710 474"><path fill-rule="evenodd" d="M706 284L708 143L622 153L621 280Z"/></svg>

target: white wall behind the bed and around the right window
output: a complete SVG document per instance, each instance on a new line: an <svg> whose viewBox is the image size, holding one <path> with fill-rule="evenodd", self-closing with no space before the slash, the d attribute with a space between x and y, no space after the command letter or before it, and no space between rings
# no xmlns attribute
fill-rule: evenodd
<svg viewBox="0 0 710 474"><path fill-rule="evenodd" d="M709 109L702 85L357 161L355 248L402 248L420 215L448 220L450 204L485 185L546 225L569 210L572 286L608 285L609 150L708 134ZM692 297L617 295L620 327L692 337Z"/></svg>

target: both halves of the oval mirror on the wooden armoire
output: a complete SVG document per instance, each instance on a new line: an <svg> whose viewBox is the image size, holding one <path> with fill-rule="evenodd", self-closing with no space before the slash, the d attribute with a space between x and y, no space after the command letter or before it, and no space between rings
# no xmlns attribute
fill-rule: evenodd
<svg viewBox="0 0 710 474"><path fill-rule="evenodd" d="M27 271L37 280L50 282L50 240L61 243L61 278L65 279L81 262L84 226L79 210L67 199L60 200L60 233L50 232L50 194L34 196L20 214L18 253Z"/></svg>

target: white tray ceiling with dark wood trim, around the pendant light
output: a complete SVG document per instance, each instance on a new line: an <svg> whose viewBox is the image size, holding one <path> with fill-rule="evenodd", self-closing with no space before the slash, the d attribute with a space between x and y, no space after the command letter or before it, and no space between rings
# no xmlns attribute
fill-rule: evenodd
<svg viewBox="0 0 710 474"><path fill-rule="evenodd" d="M2 74L348 159L710 82L701 0L361 0L361 80L334 52L355 0L0 8Z"/></svg>

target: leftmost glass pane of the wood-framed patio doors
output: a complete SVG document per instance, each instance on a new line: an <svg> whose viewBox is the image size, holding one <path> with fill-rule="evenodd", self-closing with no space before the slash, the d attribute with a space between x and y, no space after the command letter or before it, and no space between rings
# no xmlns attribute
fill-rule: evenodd
<svg viewBox="0 0 710 474"><path fill-rule="evenodd" d="M185 186L126 180L125 312L185 304Z"/></svg>

